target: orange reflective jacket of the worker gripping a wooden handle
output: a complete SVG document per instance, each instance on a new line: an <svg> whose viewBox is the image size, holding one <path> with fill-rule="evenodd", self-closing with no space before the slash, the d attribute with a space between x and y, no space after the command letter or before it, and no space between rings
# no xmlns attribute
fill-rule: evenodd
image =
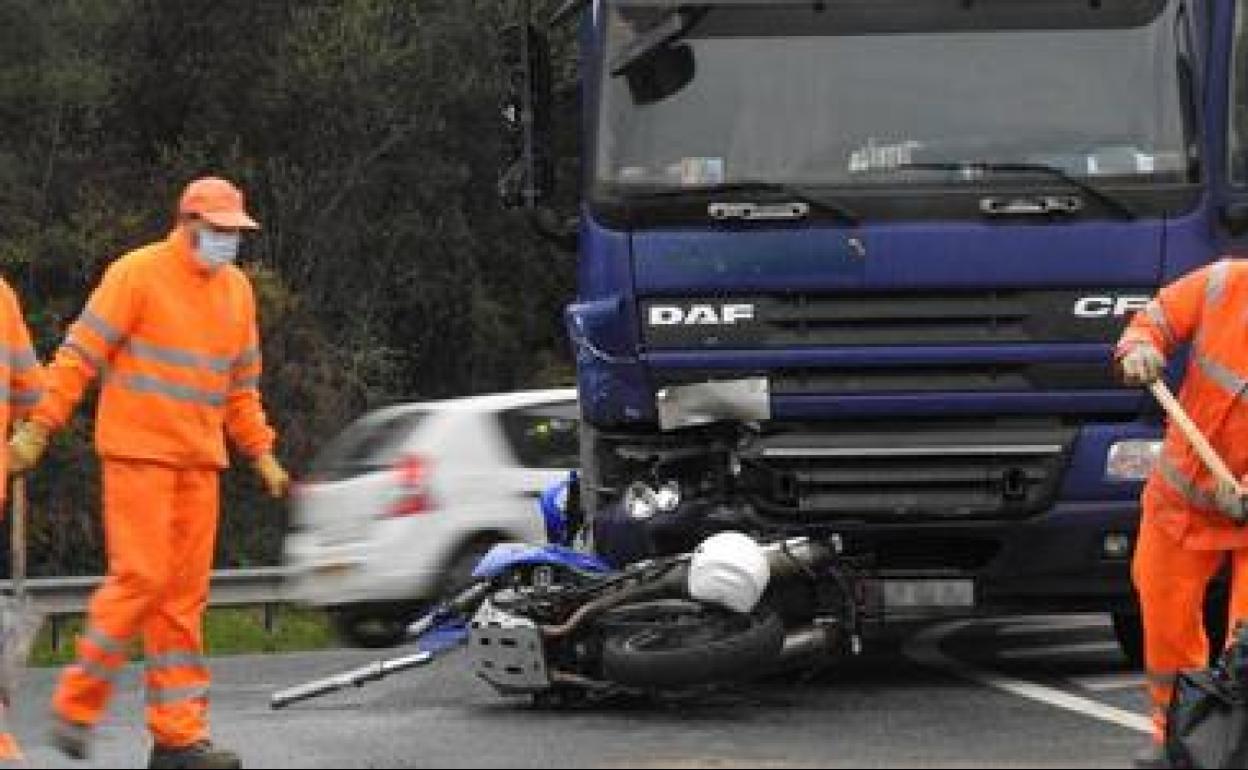
<svg viewBox="0 0 1248 770"><path fill-rule="evenodd" d="M1237 478L1248 473L1248 262L1222 260L1161 291L1118 343L1151 342L1167 357L1192 343L1179 402ZM1173 426L1144 490L1159 524L1186 548L1248 548L1248 528L1217 513L1212 473Z"/></svg>

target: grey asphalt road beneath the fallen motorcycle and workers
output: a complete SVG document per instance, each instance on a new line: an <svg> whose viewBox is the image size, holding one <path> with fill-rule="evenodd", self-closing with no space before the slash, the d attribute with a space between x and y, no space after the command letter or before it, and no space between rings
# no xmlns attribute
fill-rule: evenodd
<svg viewBox="0 0 1248 770"><path fill-rule="evenodd" d="M216 661L213 730L250 768L1127 768L1147 729L1141 676L1099 616L907 629L810 681L680 706L542 711L497 698L457 655L367 689L271 711L270 693L372 660L361 651ZM91 763L44 739L52 671L16 731L39 768L146 763L129 671Z"/></svg>

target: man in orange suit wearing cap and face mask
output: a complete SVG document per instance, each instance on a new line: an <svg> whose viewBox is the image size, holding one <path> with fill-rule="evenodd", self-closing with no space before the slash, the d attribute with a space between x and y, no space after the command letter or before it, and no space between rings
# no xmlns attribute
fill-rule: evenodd
<svg viewBox="0 0 1248 770"><path fill-rule="evenodd" d="M107 268L47 366L44 398L10 442L15 470L32 467L102 376L95 442L109 574L52 700L52 739L71 758L86 756L141 636L151 766L240 765L208 738L202 618L226 436L270 494L290 485L260 398L255 295L233 265L241 235L257 227L230 182L188 185L173 231Z"/></svg>

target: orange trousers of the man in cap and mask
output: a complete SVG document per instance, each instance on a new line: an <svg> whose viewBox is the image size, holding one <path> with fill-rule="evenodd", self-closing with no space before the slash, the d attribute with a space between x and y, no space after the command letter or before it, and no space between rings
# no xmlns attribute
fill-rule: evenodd
<svg viewBox="0 0 1248 770"><path fill-rule="evenodd" d="M52 699L62 719L95 725L142 636L147 725L156 744L208 738L208 669L203 659L218 518L218 470L104 461L109 574L91 597L77 663Z"/></svg>

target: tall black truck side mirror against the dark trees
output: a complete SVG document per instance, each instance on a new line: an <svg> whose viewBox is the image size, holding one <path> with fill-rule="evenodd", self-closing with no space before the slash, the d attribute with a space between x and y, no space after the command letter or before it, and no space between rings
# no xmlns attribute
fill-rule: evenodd
<svg viewBox="0 0 1248 770"><path fill-rule="evenodd" d="M533 208L554 192L550 115L550 44L533 24L503 27L502 172L498 192L508 208Z"/></svg>

